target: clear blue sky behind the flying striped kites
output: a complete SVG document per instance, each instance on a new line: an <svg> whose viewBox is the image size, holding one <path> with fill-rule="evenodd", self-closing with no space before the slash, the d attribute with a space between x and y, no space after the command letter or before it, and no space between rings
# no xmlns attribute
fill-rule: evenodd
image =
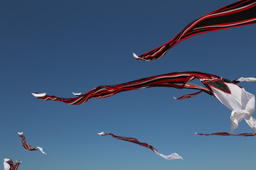
<svg viewBox="0 0 256 170"><path fill-rule="evenodd" d="M255 137L198 136L230 132L230 113L208 94L176 101L191 91L127 91L81 106L41 101L31 92L73 97L112 85L178 71L233 80L256 77L255 25L196 35L152 62L134 60L167 42L184 26L236 0L0 1L0 159L23 161L20 170L255 169ZM242 82L256 94L255 82ZM43 147L29 152L28 144ZM136 137L162 154L97 132ZM252 132L245 121L236 133ZM2 159L3 160L3 159ZM1 162L1 160L0 160ZM0 166L0 169L4 169Z"/></svg>

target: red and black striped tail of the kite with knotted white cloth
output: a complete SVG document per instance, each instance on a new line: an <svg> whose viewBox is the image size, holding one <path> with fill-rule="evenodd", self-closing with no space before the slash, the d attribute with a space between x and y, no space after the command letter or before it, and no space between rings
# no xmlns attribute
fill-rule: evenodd
<svg viewBox="0 0 256 170"><path fill-rule="evenodd" d="M199 79L206 87L198 86L196 84L189 84L188 82L193 79ZM199 90L195 94L188 94L186 96L181 96L180 98L177 98L179 100L182 100L185 98L197 96L201 93L201 91L204 91L207 94L213 96L208 84L216 81L218 81L218 84L220 84L220 86L225 86L225 84L223 84L223 81L228 80L223 79L222 77L215 76L213 74L207 74L203 72L173 72L169 74L161 74L154 77L137 79L122 84L115 84L111 86L98 86L97 88L88 91L86 94L80 94L75 98L60 98L58 96L48 96L45 94L43 94L42 96L38 94L33 95L45 101L62 101L71 105L80 105L87 102L90 98L107 98L110 96L114 96L115 94L119 94L122 91L131 91L150 87L174 87L176 89ZM228 82L232 83L231 81Z"/></svg>

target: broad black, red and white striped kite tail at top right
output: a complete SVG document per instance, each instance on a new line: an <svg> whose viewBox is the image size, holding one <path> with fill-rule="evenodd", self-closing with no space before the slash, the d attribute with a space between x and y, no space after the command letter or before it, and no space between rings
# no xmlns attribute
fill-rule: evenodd
<svg viewBox="0 0 256 170"><path fill-rule="evenodd" d="M166 52L174 45L201 33L208 33L214 30L234 28L256 23L256 2L255 0L241 0L233 4L219 8L206 16L198 18L196 21L188 24L178 35L169 42L166 42L154 50L143 55L134 55L137 60L151 61L163 57Z"/></svg>

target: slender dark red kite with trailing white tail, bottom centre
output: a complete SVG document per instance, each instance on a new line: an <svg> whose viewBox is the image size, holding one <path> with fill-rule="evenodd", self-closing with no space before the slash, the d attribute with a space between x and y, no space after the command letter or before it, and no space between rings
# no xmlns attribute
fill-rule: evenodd
<svg viewBox="0 0 256 170"><path fill-rule="evenodd" d="M181 156L179 156L176 153L170 154L170 155L164 155L164 154L160 154L152 145L149 145L148 143L144 143L144 142L139 142L139 140L137 140L134 137L120 137L117 135L113 135L112 133L108 132L106 134L104 134L104 132L99 132L98 135L101 136L106 136L106 135L111 135L112 137L114 137L117 140L124 140L127 142L133 142L137 145L141 145L142 147L146 147L151 149L153 152L155 152L156 154L158 154L159 156L163 157L164 159L168 159L168 160L173 160L173 159L183 159Z"/></svg>

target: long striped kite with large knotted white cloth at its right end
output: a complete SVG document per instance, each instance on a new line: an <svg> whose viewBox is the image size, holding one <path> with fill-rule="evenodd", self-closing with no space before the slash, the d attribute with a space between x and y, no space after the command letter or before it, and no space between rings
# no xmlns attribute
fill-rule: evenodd
<svg viewBox="0 0 256 170"><path fill-rule="evenodd" d="M206 87L190 84L189 81L192 81L193 79L199 79ZM98 86L97 88L88 91L86 94L80 94L75 98L59 98L57 96L46 96L46 94L33 94L33 96L46 101L62 101L72 105L79 105L85 103L90 98L107 98L122 91L145 89L156 86L174 87L176 89L196 89L199 91L193 94L186 94L176 99L183 100L185 98L197 96L202 91L206 92L217 98L218 101L232 111L230 116L232 132L238 128L238 123L243 119L245 119L247 124L256 131L256 120L252 118L252 113L255 111L255 96L236 85L240 81L256 81L256 79L250 77L230 81L223 77L203 72L174 72L137 79L123 84Z"/></svg>

